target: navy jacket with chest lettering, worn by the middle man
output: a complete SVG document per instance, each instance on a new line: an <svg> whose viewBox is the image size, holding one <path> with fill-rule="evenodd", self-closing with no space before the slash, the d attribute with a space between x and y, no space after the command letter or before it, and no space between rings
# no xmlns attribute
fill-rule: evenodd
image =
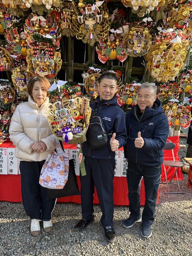
<svg viewBox="0 0 192 256"><path fill-rule="evenodd" d="M96 110L95 109L96 104ZM92 111L96 112L103 120L105 131L108 135L108 143L102 148L92 149L88 137L82 145L83 154L97 159L114 159L115 152L111 151L110 140L113 133L116 133L115 139L119 141L119 148L126 143L127 131L125 126L125 112L116 102L116 95L109 101L100 100L99 96L95 102L90 102Z"/></svg>

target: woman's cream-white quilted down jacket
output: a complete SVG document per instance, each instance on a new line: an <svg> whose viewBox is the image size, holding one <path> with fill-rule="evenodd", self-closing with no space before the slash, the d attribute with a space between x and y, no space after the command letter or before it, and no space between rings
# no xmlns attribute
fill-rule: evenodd
<svg viewBox="0 0 192 256"><path fill-rule="evenodd" d="M20 103L12 116L9 128L10 140L15 144L15 157L20 161L46 160L49 151L56 148L56 140L51 134L47 115L49 110L49 98L40 108L29 96L28 102ZM44 142L46 151L38 153L32 150L33 142Z"/></svg>

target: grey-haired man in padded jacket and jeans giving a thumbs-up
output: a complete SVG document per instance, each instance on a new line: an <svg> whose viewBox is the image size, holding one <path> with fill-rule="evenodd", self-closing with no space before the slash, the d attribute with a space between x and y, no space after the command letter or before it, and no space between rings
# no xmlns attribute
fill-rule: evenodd
<svg viewBox="0 0 192 256"><path fill-rule="evenodd" d="M154 222L157 192L160 184L163 147L169 134L169 124L155 84L144 83L138 89L137 105L126 116L128 160L127 181L130 216L123 227L143 222L142 236L150 237ZM145 206L140 214L140 181L144 178Z"/></svg>

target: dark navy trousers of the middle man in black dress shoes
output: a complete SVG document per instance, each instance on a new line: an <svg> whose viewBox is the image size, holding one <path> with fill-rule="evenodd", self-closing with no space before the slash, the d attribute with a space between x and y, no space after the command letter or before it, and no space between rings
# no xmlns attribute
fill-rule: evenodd
<svg viewBox="0 0 192 256"><path fill-rule="evenodd" d="M93 218L93 194L96 186L102 210L103 227L113 226L113 177L115 160L85 157L87 175L81 176L81 209L85 219Z"/></svg>

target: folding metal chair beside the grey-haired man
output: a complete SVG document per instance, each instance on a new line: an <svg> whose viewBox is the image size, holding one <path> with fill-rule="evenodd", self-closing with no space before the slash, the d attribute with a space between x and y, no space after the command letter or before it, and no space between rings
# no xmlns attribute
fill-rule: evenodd
<svg viewBox="0 0 192 256"><path fill-rule="evenodd" d="M170 140L167 140L166 145L163 148L163 150L171 150L172 151L172 158L173 158L173 160L164 160L163 161L165 177L164 177L164 179L163 179L163 181L161 183L163 183L164 180L166 179L166 184L167 184L168 192L166 192L165 194L184 194L184 192L181 192L181 190L180 190L179 179L178 179L178 175L177 175L177 170L178 170L179 167L183 166L183 163L180 162L180 161L175 160L174 151L173 151L173 149L175 147L176 147L175 143L172 143ZM165 166L168 166L167 171L166 171ZM167 180L167 175L170 172L172 167L175 168L175 172L172 175L172 178L169 181L169 184L172 183L173 177L176 175L176 177L177 177L177 185L178 185L179 192L170 192L170 190L169 190L169 184L168 184L168 180Z"/></svg>

